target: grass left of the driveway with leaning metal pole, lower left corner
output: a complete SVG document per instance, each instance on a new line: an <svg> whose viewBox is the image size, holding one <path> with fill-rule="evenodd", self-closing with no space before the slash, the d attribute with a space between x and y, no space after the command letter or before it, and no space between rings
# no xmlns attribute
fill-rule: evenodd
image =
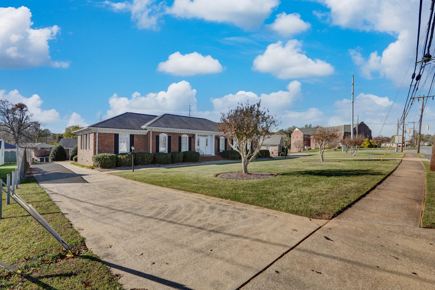
<svg viewBox="0 0 435 290"><path fill-rule="evenodd" d="M66 257L60 243L12 199L11 204L6 205L6 195L3 194L0 260L17 267L24 276L11 274L2 268L0 289L122 289L108 268L87 249L84 238L71 227L33 177L24 179L16 192L32 204L71 247L82 254L75 258Z"/></svg>

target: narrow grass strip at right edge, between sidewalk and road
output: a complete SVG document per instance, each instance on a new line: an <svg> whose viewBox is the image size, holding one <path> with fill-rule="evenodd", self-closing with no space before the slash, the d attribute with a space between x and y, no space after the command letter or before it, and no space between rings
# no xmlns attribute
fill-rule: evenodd
<svg viewBox="0 0 435 290"><path fill-rule="evenodd" d="M435 171L429 171L430 161L422 161L426 170L426 195L421 227L435 229Z"/></svg>

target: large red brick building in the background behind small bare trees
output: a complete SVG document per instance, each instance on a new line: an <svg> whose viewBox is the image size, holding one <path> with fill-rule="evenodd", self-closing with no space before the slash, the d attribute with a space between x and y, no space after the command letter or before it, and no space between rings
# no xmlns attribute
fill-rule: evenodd
<svg viewBox="0 0 435 290"><path fill-rule="evenodd" d="M337 140L341 140L343 138L346 138L348 136L351 136L351 125L340 125L340 126L332 126L334 128L335 133L337 133ZM304 140L304 149L305 150L311 150L314 149L316 146L311 141L311 134L313 129L312 128L296 128L293 133L291 133L291 152L297 152L298 149L294 147L293 142L296 140ZM371 136L371 130L370 128L364 123L360 122L359 124L355 125L353 128L354 134L361 134L368 139L372 139Z"/></svg>

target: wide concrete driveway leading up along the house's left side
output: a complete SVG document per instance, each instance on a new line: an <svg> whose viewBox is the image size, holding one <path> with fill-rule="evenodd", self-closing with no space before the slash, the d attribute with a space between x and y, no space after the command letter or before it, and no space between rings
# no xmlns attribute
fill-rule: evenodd
<svg viewBox="0 0 435 290"><path fill-rule="evenodd" d="M237 289L319 228L306 217L69 162L32 168L126 289Z"/></svg>

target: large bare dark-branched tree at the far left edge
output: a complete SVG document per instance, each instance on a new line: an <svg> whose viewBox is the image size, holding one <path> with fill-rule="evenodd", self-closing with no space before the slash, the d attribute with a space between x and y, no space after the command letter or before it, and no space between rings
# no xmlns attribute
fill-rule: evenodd
<svg viewBox="0 0 435 290"><path fill-rule="evenodd" d="M39 128L40 123L32 117L33 114L25 104L0 100L1 131L10 135L16 145L35 141L34 129Z"/></svg>

